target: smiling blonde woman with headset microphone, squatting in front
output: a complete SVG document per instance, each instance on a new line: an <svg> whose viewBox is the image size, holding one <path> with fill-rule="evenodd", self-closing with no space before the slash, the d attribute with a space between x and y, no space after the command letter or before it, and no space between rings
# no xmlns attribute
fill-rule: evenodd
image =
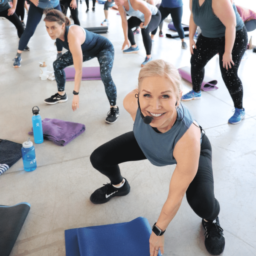
<svg viewBox="0 0 256 256"><path fill-rule="evenodd" d="M90 156L93 167L111 180L96 189L90 201L103 204L130 192L119 163L148 159L155 166L176 164L167 200L152 228L150 255L157 256L159 250L164 253L162 235L185 193L207 230L207 250L219 255L224 251L225 239L218 219L220 205L214 196L212 148L207 136L201 136L201 128L192 113L180 104L180 75L172 64L156 60L140 70L138 80L139 88L124 99L124 107L134 120L133 131L101 145Z"/></svg>

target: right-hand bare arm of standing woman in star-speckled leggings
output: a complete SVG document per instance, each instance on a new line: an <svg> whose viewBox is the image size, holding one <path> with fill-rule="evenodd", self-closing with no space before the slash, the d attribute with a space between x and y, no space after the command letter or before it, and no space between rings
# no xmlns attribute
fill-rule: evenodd
<svg viewBox="0 0 256 256"><path fill-rule="evenodd" d="M231 68L232 49L236 39L236 15L230 0L212 0L212 10L226 27L225 52L222 58L223 67Z"/></svg>

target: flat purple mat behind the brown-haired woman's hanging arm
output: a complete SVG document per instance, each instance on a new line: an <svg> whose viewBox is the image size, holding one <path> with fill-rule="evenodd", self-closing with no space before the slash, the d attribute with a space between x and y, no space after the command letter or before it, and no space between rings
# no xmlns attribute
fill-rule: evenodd
<svg viewBox="0 0 256 256"><path fill-rule="evenodd" d="M76 70L74 67L65 67L66 81L74 81ZM83 67L82 81L101 80L99 67Z"/></svg>

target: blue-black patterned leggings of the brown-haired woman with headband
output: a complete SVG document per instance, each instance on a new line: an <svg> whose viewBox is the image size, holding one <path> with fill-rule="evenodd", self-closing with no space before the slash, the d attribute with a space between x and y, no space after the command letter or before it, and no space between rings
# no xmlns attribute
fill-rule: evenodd
<svg viewBox="0 0 256 256"><path fill-rule="evenodd" d="M116 85L111 77L111 70L114 61L114 48L107 48L98 53L96 56L100 66L100 76L105 86L105 92L111 106L116 105ZM89 57L83 52L83 62L89 61L94 57ZM73 57L70 51L65 52L60 58L53 62L54 75L58 86L58 91L65 89L66 74L64 68L73 65Z"/></svg>

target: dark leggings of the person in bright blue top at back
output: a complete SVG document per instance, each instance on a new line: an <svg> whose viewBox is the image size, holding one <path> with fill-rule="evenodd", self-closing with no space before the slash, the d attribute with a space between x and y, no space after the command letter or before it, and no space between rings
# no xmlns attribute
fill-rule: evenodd
<svg viewBox="0 0 256 256"><path fill-rule="evenodd" d="M177 7L177 8L164 8L163 6L159 6L159 11L161 13L161 22L163 22L163 20L165 20L165 18L171 14L172 16L172 22L173 25L175 27L175 29L177 30L180 39L183 39L185 37L184 35L184 29L181 25L181 18L182 18L182 14L183 14L183 7ZM157 28L151 32L152 35L155 35L157 33Z"/></svg>

